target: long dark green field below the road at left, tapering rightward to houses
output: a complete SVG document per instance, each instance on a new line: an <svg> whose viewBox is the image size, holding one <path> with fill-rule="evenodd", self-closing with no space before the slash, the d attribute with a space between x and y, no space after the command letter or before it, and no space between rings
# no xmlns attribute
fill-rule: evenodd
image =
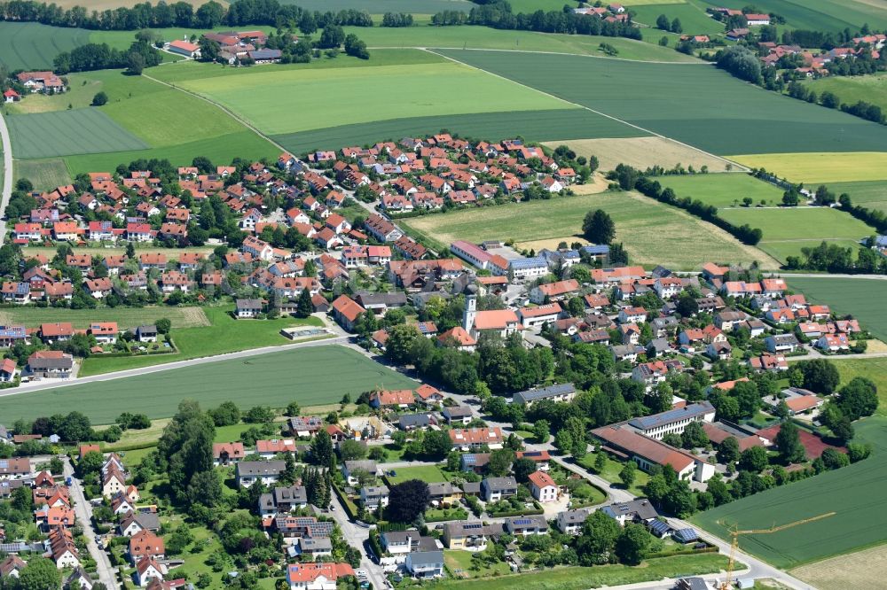
<svg viewBox="0 0 887 590"><path fill-rule="evenodd" d="M204 408L227 400L241 408L282 408L293 400L317 406L376 386L396 389L415 382L349 348L324 345L0 397L0 415L12 422L76 409L94 423L111 423L123 411L168 417L184 399Z"/></svg>

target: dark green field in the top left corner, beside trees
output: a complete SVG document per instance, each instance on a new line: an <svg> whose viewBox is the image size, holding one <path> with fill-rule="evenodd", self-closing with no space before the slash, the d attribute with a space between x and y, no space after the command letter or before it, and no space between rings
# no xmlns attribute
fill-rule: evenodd
<svg viewBox="0 0 887 590"><path fill-rule="evenodd" d="M0 65L10 71L51 69L61 51L89 43L83 28L58 28L36 22L0 22Z"/></svg>

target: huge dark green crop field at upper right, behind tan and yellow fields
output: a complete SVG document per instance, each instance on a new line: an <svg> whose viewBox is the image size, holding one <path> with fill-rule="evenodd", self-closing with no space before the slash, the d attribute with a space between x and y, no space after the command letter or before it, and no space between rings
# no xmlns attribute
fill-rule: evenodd
<svg viewBox="0 0 887 590"><path fill-rule="evenodd" d="M877 151L887 144L883 125L777 96L713 66L612 67L582 56L439 52L716 154Z"/></svg>

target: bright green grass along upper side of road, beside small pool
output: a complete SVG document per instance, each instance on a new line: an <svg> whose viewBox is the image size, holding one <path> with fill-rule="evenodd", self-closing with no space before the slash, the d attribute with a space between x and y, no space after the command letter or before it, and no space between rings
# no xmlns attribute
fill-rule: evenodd
<svg viewBox="0 0 887 590"><path fill-rule="evenodd" d="M125 369L150 367L167 362L187 361L203 356L233 353L249 348L291 344L280 336L282 328L291 326L320 326L318 318L297 320L293 317L279 317L274 320L235 320L230 315L233 307L203 307L209 325L183 330L173 330L172 338L178 353L136 357L90 357L83 361L80 375L99 375Z"/></svg>

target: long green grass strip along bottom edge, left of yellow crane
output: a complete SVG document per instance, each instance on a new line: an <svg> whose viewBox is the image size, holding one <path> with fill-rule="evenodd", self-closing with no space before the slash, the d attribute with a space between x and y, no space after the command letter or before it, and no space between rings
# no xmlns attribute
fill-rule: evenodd
<svg viewBox="0 0 887 590"><path fill-rule="evenodd" d="M465 552L470 560L470 554ZM436 584L436 588L451 590L454 588L473 590L585 590L590 587L620 586L637 582L674 578L676 576L695 576L703 573L716 573L726 570L727 558L723 555L674 555L648 559L640 566L601 565L593 568L560 567L553 570L533 573L522 573L496 578L476 580L444 580ZM470 573L470 572L469 572Z"/></svg>

